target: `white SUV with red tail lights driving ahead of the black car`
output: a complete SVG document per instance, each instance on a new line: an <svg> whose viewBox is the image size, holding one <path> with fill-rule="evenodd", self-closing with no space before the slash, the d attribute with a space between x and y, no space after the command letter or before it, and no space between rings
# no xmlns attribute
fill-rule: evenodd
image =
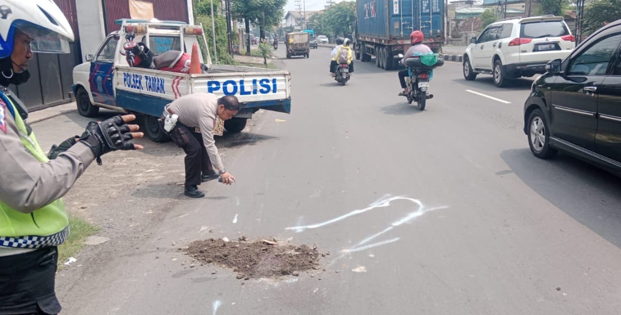
<svg viewBox="0 0 621 315"><path fill-rule="evenodd" d="M479 73L492 74L494 84L506 86L510 79L545 73L550 60L564 60L576 47L563 17L538 16L499 20L470 40L463 55L468 81Z"/></svg>

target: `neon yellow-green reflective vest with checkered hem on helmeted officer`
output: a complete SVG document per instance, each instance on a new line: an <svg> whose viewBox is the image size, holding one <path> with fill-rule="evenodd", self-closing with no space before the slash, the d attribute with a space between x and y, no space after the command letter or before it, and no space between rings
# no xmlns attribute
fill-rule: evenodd
<svg viewBox="0 0 621 315"><path fill-rule="evenodd" d="M15 106L11 99L0 91L0 104L4 107L4 115L9 115L7 110L15 118L19 137L27 151L39 162L48 162L47 156L37 143L34 133L28 135L26 125L19 113L15 112ZM1 135L0 135L1 136ZM1 161L0 161L1 162ZM0 179L2 174L0 174ZM6 180L1 180L1 185L11 185ZM65 205L61 199L55 200L47 206L43 206L32 213L22 213L0 200L0 248L30 248L36 249L47 246L57 246L65 242L69 236L69 220L65 212Z"/></svg>

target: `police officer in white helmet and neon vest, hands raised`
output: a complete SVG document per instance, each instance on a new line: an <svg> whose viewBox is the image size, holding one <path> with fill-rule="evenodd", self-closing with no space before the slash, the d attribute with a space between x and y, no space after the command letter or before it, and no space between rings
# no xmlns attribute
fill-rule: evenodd
<svg viewBox="0 0 621 315"><path fill-rule="evenodd" d="M50 0L0 0L0 315L57 314L57 246L69 235L60 199L91 162L114 150L142 149L134 115L91 122L55 147L49 160L6 88L28 80L33 52L68 53L73 32Z"/></svg>

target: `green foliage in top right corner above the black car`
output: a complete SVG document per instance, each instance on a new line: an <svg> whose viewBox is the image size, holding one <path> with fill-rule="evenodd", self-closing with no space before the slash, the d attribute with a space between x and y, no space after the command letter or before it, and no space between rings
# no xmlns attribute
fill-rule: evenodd
<svg viewBox="0 0 621 315"><path fill-rule="evenodd" d="M593 0L584 7L583 35L590 35L604 25L621 18L621 1Z"/></svg>

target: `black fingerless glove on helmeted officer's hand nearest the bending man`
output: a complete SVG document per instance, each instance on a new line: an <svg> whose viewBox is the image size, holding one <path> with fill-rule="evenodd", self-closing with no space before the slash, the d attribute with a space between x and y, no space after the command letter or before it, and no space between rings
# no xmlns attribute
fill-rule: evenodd
<svg viewBox="0 0 621 315"><path fill-rule="evenodd" d="M86 143L95 154L97 164L101 165L101 156L116 150L134 150L132 133L120 115L106 119L101 123L89 122L79 141Z"/></svg>

